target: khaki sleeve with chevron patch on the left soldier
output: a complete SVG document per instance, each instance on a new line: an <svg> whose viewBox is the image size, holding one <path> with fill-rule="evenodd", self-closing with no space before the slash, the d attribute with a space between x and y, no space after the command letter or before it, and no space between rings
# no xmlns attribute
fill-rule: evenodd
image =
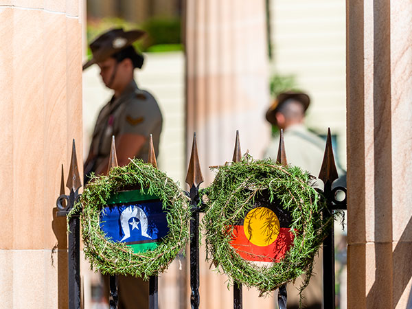
<svg viewBox="0 0 412 309"><path fill-rule="evenodd" d="M161 126L161 112L155 98L149 93L141 95L124 108L119 134L136 134L148 137L157 126Z"/></svg>

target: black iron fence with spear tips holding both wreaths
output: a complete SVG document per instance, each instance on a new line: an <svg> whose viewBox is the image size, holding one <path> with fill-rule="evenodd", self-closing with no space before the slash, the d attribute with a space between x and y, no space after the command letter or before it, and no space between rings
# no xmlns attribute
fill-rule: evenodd
<svg viewBox="0 0 412 309"><path fill-rule="evenodd" d="M109 159L109 169L117 162L113 160L115 154L114 143L112 144L112 155ZM233 151L233 161L237 162L241 159L239 135L236 133L235 149ZM286 152L284 149L284 137L281 131L279 139L279 150L277 153L277 163L286 165ZM156 159L152 148L149 152L148 163L156 166ZM338 172L334 162L332 150L332 139L330 130L328 130L328 138L325 145L325 155L319 173L319 179L323 181L323 196L326 198L328 209L323 211L323 219L328 220L332 216L333 211L338 209L346 209L346 188L332 187L332 183L338 179ZM196 146L196 134L194 134L192 144L192 154L190 157L189 167L187 169L186 183L190 190L187 196L190 197L190 206L192 207L192 220L190 220L190 304L192 309L197 309L200 304L199 295L199 214L203 211L201 196L199 189L203 183L203 176L200 170L198 151ZM58 212L57 216L67 216L73 205L78 201L80 194L80 174L76 159L76 147L73 140L73 149L71 154L71 164L67 187L69 187L69 195L61 195L57 200ZM338 192L343 192L344 198L337 199ZM66 205L65 205L65 203ZM69 220L69 248L68 248L68 272L69 272L69 309L80 308L80 214L71 216ZM323 242L323 308L335 308L335 277L334 277L334 227L333 222L330 227L327 238ZM112 309L117 308L117 276L109 276L109 306ZM158 308L158 278L150 277L149 279L149 308ZM287 308L286 286L281 286L278 290L278 305L279 309ZM233 308L242 308L242 285L237 282L233 286Z"/></svg>

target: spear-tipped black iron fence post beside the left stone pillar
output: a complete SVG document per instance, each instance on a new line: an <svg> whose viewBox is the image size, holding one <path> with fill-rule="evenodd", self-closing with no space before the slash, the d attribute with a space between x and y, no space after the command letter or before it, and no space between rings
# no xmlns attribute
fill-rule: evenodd
<svg viewBox="0 0 412 309"><path fill-rule="evenodd" d="M80 197L78 191L82 187L80 174L78 170L76 145L73 139L73 148L71 150L71 162L69 176L67 177L66 187L69 188L70 194L60 195L56 205L58 208L57 216L67 216L69 211ZM66 201L66 207L62 202ZM68 272L69 272L69 309L80 309L80 214L73 214L69 220L69 247L68 247Z"/></svg>

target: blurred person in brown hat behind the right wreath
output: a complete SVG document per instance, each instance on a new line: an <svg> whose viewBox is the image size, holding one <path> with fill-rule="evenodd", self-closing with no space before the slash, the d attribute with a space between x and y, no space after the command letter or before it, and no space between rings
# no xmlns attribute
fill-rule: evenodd
<svg viewBox="0 0 412 309"><path fill-rule="evenodd" d="M310 104L306 93L288 91L277 95L275 102L268 108L266 119L273 126L284 130L286 159L291 165L296 165L317 176L321 170L325 141L311 133L305 126L305 112ZM272 138L264 157L276 161L279 139ZM304 308L322 308L322 259L314 260L313 275L310 284L304 290ZM295 285L288 284L288 308L299 308L298 290L301 279ZM296 286L296 288L295 288Z"/></svg>

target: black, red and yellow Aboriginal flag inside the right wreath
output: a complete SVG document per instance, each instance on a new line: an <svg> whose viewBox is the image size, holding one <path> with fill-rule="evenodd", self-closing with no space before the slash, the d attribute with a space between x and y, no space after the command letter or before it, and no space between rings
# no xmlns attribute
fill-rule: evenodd
<svg viewBox="0 0 412 309"><path fill-rule="evenodd" d="M289 212L264 192L243 220L234 226L231 246L245 260L279 262L293 246Z"/></svg>

